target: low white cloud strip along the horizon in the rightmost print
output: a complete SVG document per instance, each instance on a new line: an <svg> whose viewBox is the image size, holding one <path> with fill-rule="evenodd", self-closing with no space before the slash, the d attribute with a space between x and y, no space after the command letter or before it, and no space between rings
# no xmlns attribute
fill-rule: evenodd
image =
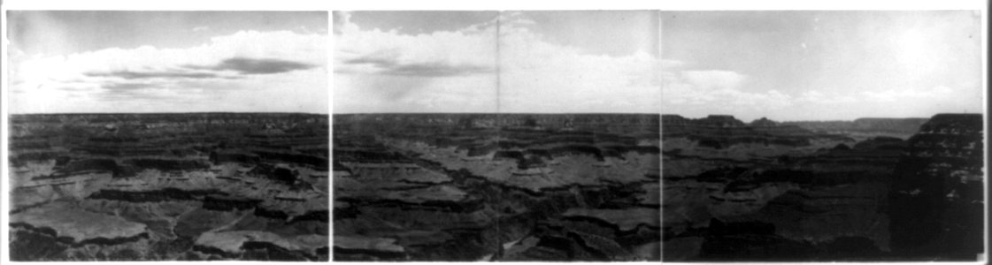
<svg viewBox="0 0 992 265"><path fill-rule="evenodd" d="M720 69L683 69L676 63L662 71L665 113L688 117L709 114L735 115L752 120L769 117L778 120L856 119L860 117L930 117L934 113L960 112L957 90L938 85L930 88L907 86L866 87L849 93L847 89L791 88L755 90L751 77ZM923 104L926 103L926 104Z"/></svg>

